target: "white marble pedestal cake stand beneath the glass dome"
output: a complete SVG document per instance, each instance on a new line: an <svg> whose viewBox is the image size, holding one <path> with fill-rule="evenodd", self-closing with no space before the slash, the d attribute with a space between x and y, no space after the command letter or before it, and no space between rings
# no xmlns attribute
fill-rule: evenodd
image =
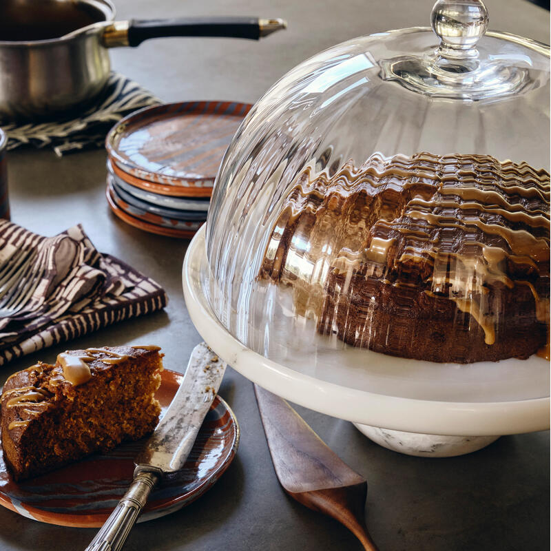
<svg viewBox="0 0 551 551"><path fill-rule="evenodd" d="M248 349L220 324L205 293L208 279L203 226L187 250L183 289L205 342L252 382L351 421L382 446L447 457L478 450L500 435L549 428L550 369L539 357L457 366L353 351L362 354L362 369L338 362L325 371L294 353L275 362Z"/></svg>

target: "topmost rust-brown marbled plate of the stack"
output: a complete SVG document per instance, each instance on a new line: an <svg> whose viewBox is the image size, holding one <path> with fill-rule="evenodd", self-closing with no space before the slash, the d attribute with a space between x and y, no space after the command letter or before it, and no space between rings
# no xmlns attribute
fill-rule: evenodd
<svg viewBox="0 0 551 551"><path fill-rule="evenodd" d="M231 101L146 107L116 124L105 147L113 164L138 180L176 187L176 193L211 188L231 138L250 109L247 103Z"/></svg>

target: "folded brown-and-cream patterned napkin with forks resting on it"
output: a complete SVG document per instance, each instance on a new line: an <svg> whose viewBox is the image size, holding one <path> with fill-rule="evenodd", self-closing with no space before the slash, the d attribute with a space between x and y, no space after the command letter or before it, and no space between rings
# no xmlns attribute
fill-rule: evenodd
<svg viewBox="0 0 551 551"><path fill-rule="evenodd" d="M13 313L11 292L29 295ZM154 280L96 251L81 225L45 238L0 220L0 366L166 304Z"/></svg>

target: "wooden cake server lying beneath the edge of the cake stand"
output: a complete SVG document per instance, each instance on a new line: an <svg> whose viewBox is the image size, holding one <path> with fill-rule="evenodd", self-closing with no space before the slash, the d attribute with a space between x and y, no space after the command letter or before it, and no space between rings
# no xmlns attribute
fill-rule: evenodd
<svg viewBox="0 0 551 551"><path fill-rule="evenodd" d="M349 528L367 551L377 551L364 521L367 482L337 457L284 399L254 385L275 474L302 505Z"/></svg>

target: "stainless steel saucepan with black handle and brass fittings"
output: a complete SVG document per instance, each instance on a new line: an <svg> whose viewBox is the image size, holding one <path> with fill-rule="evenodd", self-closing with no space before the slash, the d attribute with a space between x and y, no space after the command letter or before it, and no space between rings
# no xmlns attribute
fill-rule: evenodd
<svg viewBox="0 0 551 551"><path fill-rule="evenodd" d="M110 74L107 48L157 37L259 39L282 19L114 21L110 0L0 1L0 120L48 117L90 103Z"/></svg>

